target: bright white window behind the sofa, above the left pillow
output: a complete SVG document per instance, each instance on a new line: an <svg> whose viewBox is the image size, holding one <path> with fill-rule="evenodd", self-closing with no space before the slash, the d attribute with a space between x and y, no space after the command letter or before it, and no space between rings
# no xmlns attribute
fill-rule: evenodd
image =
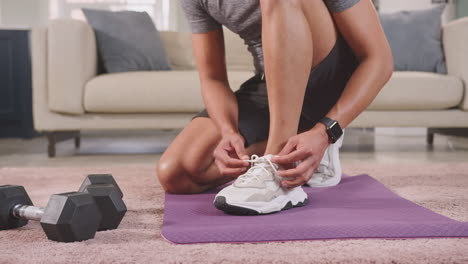
<svg viewBox="0 0 468 264"><path fill-rule="evenodd" d="M171 0L49 0L50 18L85 20L81 8L146 11L160 30L168 30Z"/></svg>

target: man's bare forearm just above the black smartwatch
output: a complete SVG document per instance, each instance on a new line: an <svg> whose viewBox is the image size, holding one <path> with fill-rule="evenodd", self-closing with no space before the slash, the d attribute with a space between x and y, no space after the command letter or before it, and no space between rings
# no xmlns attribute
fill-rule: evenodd
<svg viewBox="0 0 468 264"><path fill-rule="evenodd" d="M363 60L327 117L337 120L341 127L347 127L372 103L392 72L391 59L376 57Z"/></svg>

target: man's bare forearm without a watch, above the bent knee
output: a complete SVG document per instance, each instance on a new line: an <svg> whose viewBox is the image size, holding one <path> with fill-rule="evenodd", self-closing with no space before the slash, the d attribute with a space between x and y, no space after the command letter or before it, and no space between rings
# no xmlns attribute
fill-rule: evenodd
<svg viewBox="0 0 468 264"><path fill-rule="evenodd" d="M237 100L229 85L216 80L204 81L202 95L208 114L220 132L237 132Z"/></svg>

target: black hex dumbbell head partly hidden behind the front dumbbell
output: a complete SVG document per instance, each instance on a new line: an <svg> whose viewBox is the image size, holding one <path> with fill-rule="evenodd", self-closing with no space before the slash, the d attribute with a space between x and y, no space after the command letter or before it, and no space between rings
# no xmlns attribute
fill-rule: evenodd
<svg viewBox="0 0 468 264"><path fill-rule="evenodd" d="M99 231L116 229L120 225L127 206L122 199L122 190L111 174L88 175L78 191L94 197L102 215Z"/></svg>

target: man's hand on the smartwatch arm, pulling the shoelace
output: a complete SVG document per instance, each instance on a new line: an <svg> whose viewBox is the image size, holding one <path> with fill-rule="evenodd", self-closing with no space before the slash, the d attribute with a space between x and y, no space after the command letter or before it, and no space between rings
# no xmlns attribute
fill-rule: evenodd
<svg viewBox="0 0 468 264"><path fill-rule="evenodd" d="M291 169L278 171L278 176L285 177L281 185L291 189L305 184L312 178L329 145L326 128L321 123L309 131L291 137L278 156L272 158L274 163L285 167L300 161L295 168L293 166Z"/></svg>

